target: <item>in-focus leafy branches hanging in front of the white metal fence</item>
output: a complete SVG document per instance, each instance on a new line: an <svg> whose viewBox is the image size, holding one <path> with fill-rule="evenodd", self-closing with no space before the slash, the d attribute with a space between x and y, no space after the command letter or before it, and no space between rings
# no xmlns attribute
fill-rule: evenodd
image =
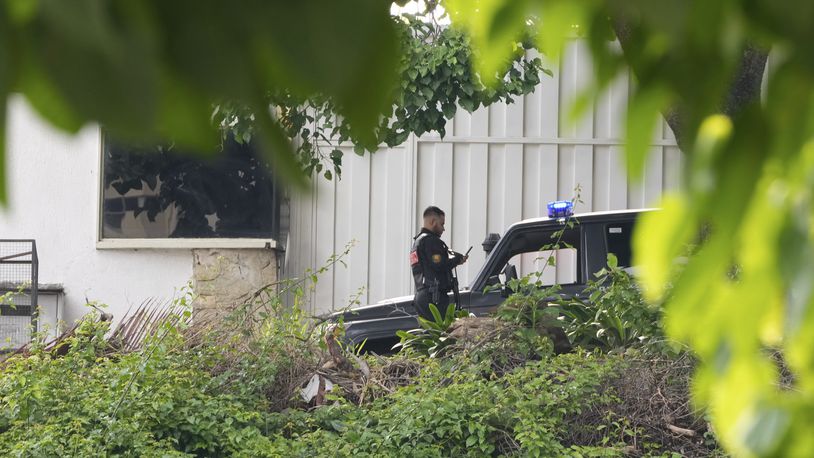
<svg viewBox="0 0 814 458"><path fill-rule="evenodd" d="M458 107L468 112L481 106L528 94L540 83L543 70L529 35L506 45L510 58L496 70L497 84L485 85L473 68L469 37L461 29L439 25L434 16L397 15L393 25L401 45L398 84L391 94L372 141L353 129L353 121L337 116L336 101L324 95L296 97L289 91L272 91L267 103L277 113L286 136L294 140L295 156L305 174L331 179L342 171L343 146L356 154L374 153L380 145L404 143L410 134L446 133L446 122ZM360 97L363 97L360 94ZM224 103L215 119L224 133L250 141L255 130L252 110Z"/></svg>

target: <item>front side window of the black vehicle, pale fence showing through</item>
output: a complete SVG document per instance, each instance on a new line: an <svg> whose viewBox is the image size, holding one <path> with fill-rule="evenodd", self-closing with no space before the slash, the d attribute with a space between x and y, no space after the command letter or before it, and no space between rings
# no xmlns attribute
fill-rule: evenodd
<svg viewBox="0 0 814 458"><path fill-rule="evenodd" d="M578 283L579 238L579 226L566 229L562 235L555 230L539 229L519 233L509 245L506 255L508 259L505 264L501 264L500 272L511 265L515 267L519 277L540 274L539 279L546 286ZM500 280L506 282L505 273Z"/></svg>

